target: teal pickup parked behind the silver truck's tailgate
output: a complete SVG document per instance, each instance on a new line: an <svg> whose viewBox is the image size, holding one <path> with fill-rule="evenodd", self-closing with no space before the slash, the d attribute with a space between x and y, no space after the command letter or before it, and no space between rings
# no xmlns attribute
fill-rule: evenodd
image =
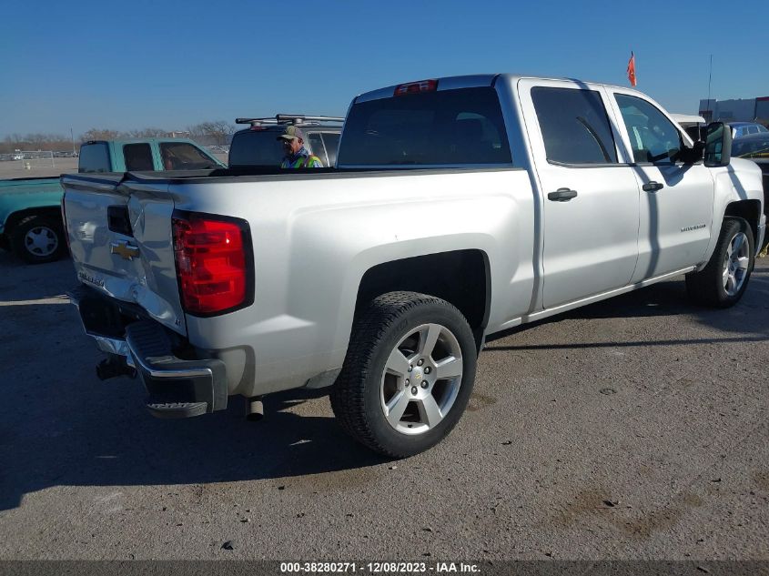
<svg viewBox="0 0 769 576"><path fill-rule="evenodd" d="M80 147L80 173L210 170L224 165L184 138L91 140ZM31 264L66 252L59 178L0 180L0 248Z"/></svg>

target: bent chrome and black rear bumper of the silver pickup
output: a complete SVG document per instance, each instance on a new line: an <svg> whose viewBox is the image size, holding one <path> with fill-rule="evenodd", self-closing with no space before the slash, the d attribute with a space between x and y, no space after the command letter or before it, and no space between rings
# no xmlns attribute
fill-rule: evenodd
<svg viewBox="0 0 769 576"><path fill-rule="evenodd" d="M149 399L147 409L158 418L188 418L227 408L227 370L219 359L181 359L174 340L137 309L78 287L68 293L80 312L86 334L110 359L136 369ZM176 347L178 348L178 346Z"/></svg>

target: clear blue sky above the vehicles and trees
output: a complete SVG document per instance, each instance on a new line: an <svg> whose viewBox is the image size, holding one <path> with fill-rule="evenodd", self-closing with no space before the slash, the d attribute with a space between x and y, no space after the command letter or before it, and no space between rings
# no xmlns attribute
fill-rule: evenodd
<svg viewBox="0 0 769 576"><path fill-rule="evenodd" d="M0 137L343 116L361 92L486 72L627 86L631 50L638 89L693 114L711 54L712 97L769 96L767 15L758 2L6 2Z"/></svg>

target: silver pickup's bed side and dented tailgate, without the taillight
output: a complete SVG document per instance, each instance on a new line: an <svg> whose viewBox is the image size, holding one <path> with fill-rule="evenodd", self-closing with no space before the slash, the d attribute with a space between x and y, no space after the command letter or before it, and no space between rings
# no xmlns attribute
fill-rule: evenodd
<svg viewBox="0 0 769 576"><path fill-rule="evenodd" d="M80 281L139 305L198 350L238 357L228 359L241 367L228 370L230 394L289 389L338 369L360 280L382 261L475 248L496 267L491 330L531 304L534 198L519 168L130 173L65 177L63 185ZM126 207L132 236L110 229L109 207ZM184 313L172 220L191 212L248 222L248 310ZM121 246L139 256L121 258Z"/></svg>

